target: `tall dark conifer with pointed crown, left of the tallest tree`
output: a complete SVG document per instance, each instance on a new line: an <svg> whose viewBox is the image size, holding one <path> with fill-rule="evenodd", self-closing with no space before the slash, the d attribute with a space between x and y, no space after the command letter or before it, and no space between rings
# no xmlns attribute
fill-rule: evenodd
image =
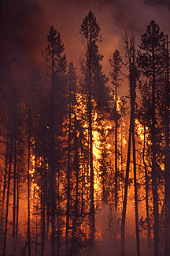
<svg viewBox="0 0 170 256"><path fill-rule="evenodd" d="M51 209L51 256L55 255L55 180L56 180L56 164L55 164L55 95L56 86L60 85L60 77L66 70L66 57L63 54L65 50L64 44L61 42L60 33L50 27L47 35L45 50L42 55L45 58L47 66L47 75L50 81L50 209ZM58 88L59 89L59 88ZM57 127L58 129L58 127ZM59 177L57 177L59 179Z"/></svg>

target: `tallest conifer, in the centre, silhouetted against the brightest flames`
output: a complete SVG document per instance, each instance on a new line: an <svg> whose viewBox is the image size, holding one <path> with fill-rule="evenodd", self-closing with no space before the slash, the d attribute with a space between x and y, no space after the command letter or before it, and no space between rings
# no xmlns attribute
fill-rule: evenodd
<svg viewBox="0 0 170 256"><path fill-rule="evenodd" d="M95 213L94 213L94 156L93 156L93 119L94 105L102 110L106 100L107 78L102 72L102 55L98 53L98 42L102 41L100 27L90 10L81 24L79 33L83 38L85 58L82 61L84 75L84 93L87 95L87 119L89 134L89 165L91 172L91 247L94 247Z"/></svg>

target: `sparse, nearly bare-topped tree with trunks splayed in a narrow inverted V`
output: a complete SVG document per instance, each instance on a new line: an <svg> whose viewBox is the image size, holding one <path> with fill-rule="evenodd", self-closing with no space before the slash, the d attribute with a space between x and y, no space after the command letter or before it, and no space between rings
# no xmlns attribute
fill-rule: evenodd
<svg viewBox="0 0 170 256"><path fill-rule="evenodd" d="M128 149L127 149L127 168L124 188L124 204L122 211L122 223L121 223L121 256L125 256L125 218L127 208L127 187L130 171L130 158L131 158L131 139L133 148L133 167L134 167L134 186L135 186L135 232L136 232L136 245L137 255L140 255L140 239L139 239L139 213L138 213L138 197L137 197L137 180L136 180L136 160L135 160L135 98L136 98L136 81L137 81L137 67L136 67L136 49L135 49L135 35L131 31L131 38L128 40L127 34L124 36L125 50L127 58L127 70L130 87L130 99L131 99L131 116L130 127L128 137Z"/></svg>

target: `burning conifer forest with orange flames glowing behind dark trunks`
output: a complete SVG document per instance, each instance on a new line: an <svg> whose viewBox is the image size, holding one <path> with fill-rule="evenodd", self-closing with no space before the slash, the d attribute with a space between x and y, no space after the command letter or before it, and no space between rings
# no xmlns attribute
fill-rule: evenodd
<svg viewBox="0 0 170 256"><path fill-rule="evenodd" d="M27 95L0 44L0 255L168 256L168 35L155 21L139 43L125 31L107 77L92 11L80 71L56 29Z"/></svg>

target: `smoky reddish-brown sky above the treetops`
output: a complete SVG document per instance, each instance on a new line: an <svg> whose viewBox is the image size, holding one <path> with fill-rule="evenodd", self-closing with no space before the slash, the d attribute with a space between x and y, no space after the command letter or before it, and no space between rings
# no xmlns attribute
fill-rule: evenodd
<svg viewBox="0 0 170 256"><path fill-rule="evenodd" d="M91 9L101 27L103 68L109 73L109 58L117 48L124 55L124 29L135 29L136 41L146 32L151 20L170 36L168 0L4 0L0 40L12 58L11 70L17 84L27 83L31 70L42 69L42 50L51 25L61 33L68 62L79 65L83 45L80 24Z"/></svg>

